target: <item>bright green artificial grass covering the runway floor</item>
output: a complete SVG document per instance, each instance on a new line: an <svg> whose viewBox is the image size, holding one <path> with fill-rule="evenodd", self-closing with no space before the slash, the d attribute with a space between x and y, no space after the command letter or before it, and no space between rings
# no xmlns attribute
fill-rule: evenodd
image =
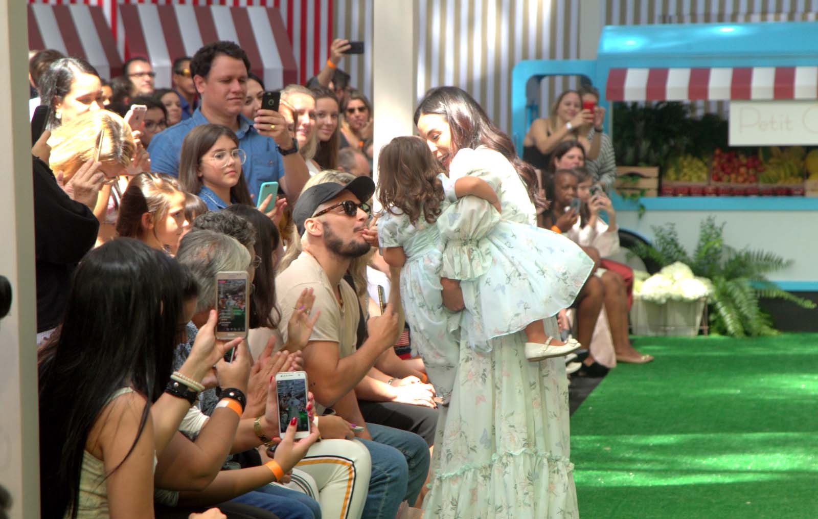
<svg viewBox="0 0 818 519"><path fill-rule="evenodd" d="M818 517L818 335L634 345L571 418L580 517Z"/></svg>

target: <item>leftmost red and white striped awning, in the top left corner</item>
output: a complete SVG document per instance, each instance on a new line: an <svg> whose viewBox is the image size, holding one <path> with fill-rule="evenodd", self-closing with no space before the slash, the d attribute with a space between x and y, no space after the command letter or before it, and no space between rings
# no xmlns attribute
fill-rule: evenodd
<svg viewBox="0 0 818 519"><path fill-rule="evenodd" d="M122 60L101 7L29 4L29 49L52 48L85 58L104 78L122 73Z"/></svg>

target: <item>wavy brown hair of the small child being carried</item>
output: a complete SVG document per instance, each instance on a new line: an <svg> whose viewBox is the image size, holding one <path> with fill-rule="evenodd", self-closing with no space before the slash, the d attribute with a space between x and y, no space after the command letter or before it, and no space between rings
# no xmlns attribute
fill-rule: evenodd
<svg viewBox="0 0 818 519"><path fill-rule="evenodd" d="M402 210L412 225L423 218L434 223L440 215L443 200L442 173L423 139L396 137L380 149L378 156L378 200L384 211L398 214Z"/></svg>

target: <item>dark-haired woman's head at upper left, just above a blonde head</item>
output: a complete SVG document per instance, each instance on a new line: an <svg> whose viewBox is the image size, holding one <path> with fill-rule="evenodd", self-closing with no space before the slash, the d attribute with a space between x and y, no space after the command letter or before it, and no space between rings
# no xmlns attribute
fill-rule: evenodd
<svg viewBox="0 0 818 519"><path fill-rule="evenodd" d="M102 110L102 83L97 70L79 57L52 61L39 82L40 104L51 107L47 129L53 130L87 111Z"/></svg>

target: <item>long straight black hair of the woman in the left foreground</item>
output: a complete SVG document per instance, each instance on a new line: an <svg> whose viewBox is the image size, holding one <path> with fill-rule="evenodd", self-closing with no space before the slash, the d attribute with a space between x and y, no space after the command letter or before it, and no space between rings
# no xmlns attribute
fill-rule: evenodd
<svg viewBox="0 0 818 519"><path fill-rule="evenodd" d="M38 351L43 517L76 517L88 434L126 386L148 401L133 451L173 371L188 284L169 255L132 238L92 250L74 271L61 329Z"/></svg>

